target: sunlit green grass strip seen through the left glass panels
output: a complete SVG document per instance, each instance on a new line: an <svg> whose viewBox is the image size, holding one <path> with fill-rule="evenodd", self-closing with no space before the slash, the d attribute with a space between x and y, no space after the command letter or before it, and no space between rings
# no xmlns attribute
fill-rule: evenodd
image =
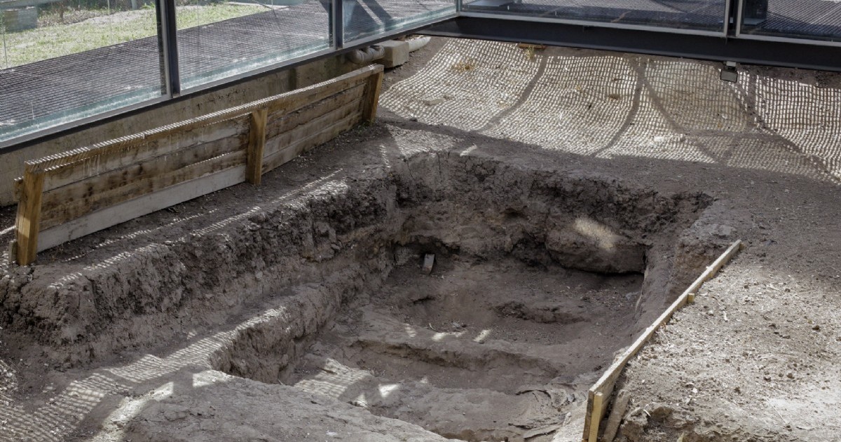
<svg viewBox="0 0 841 442"><path fill-rule="evenodd" d="M228 18L267 11L261 6L219 3L177 8L178 29L193 28ZM53 24L38 29L6 33L0 46L0 68L26 65L61 55L77 54L103 46L119 45L156 34L153 9L102 14L73 24Z"/></svg>

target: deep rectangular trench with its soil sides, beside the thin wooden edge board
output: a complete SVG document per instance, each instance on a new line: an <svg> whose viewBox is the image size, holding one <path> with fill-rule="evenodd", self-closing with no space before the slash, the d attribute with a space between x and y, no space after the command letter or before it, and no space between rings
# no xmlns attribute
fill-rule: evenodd
<svg viewBox="0 0 841 442"><path fill-rule="evenodd" d="M341 201L352 185L310 204L318 276L278 291L294 311L241 330L216 369L447 438L550 440L710 260L686 242L704 194L436 155L387 181L371 206Z"/></svg>

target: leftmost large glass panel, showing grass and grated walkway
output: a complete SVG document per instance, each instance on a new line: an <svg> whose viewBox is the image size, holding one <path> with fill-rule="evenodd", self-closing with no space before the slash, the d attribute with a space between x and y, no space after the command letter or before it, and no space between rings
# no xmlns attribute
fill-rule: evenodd
<svg viewBox="0 0 841 442"><path fill-rule="evenodd" d="M161 96L154 3L13 3L0 3L0 141Z"/></svg>

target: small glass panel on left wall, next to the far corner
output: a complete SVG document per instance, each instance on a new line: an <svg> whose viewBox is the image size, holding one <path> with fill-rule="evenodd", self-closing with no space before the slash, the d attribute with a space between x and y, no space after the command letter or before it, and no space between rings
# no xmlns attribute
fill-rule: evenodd
<svg viewBox="0 0 841 442"><path fill-rule="evenodd" d="M410 28L456 12L453 0L342 0L345 41Z"/></svg>

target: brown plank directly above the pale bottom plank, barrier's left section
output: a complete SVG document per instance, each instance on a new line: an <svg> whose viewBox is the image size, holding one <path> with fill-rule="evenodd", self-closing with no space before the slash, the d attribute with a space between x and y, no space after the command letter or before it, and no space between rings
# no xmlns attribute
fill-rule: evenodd
<svg viewBox="0 0 841 442"><path fill-rule="evenodd" d="M200 176L245 164L246 151L237 150L230 154L219 155L209 160L182 167L176 171L130 182L123 187L94 193L82 200L68 202L51 208L45 207L45 212L42 215L43 218L41 218L41 229L49 229L72 219L80 218L87 213L93 213L103 208L123 203L140 195L158 192L181 182L190 181Z"/></svg>

